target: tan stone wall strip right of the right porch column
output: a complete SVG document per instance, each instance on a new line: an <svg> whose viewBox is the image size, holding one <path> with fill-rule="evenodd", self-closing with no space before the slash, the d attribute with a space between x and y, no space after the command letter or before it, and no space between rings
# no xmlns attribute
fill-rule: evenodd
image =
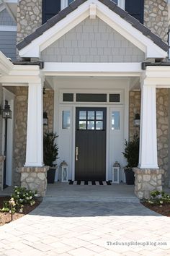
<svg viewBox="0 0 170 256"><path fill-rule="evenodd" d="M169 171L169 90L156 89L158 166L165 171L163 185L168 185Z"/></svg>

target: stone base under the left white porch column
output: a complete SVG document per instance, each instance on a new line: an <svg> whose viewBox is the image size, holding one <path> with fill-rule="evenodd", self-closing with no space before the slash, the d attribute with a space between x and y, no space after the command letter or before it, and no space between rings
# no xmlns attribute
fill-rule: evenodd
<svg viewBox="0 0 170 256"><path fill-rule="evenodd" d="M19 172L21 173L21 187L26 187L32 191L37 190L37 196L44 197L47 190L48 170L48 166L19 168Z"/></svg>

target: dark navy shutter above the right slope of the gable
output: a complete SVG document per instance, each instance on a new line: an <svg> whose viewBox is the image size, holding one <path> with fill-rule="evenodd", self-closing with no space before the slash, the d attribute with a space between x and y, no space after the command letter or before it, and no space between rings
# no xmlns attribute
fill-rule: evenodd
<svg viewBox="0 0 170 256"><path fill-rule="evenodd" d="M143 23L144 0L125 0L125 10Z"/></svg>

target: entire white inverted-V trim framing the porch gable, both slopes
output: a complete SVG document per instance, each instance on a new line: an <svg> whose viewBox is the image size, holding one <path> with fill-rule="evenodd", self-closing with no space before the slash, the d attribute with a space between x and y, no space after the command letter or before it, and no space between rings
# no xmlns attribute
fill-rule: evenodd
<svg viewBox="0 0 170 256"><path fill-rule="evenodd" d="M28 46L22 48L19 51L19 56L40 58L40 51L43 51L54 43L55 40L68 33L69 30L78 25L82 20L85 20L86 17L89 17L91 3L97 4L97 16L116 30L117 33L120 33L136 47L140 48L141 51L145 52L146 58L165 58L167 56L166 51L156 46L146 35L143 35L143 33L98 0L88 0L84 4L81 4L76 10L63 18L63 20L45 31L45 33L33 40Z"/></svg>

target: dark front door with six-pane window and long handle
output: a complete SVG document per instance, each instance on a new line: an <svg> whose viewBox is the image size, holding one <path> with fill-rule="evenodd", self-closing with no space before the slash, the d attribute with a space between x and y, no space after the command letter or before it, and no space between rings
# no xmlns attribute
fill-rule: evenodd
<svg viewBox="0 0 170 256"><path fill-rule="evenodd" d="M106 179L107 108L76 108L75 179Z"/></svg>

